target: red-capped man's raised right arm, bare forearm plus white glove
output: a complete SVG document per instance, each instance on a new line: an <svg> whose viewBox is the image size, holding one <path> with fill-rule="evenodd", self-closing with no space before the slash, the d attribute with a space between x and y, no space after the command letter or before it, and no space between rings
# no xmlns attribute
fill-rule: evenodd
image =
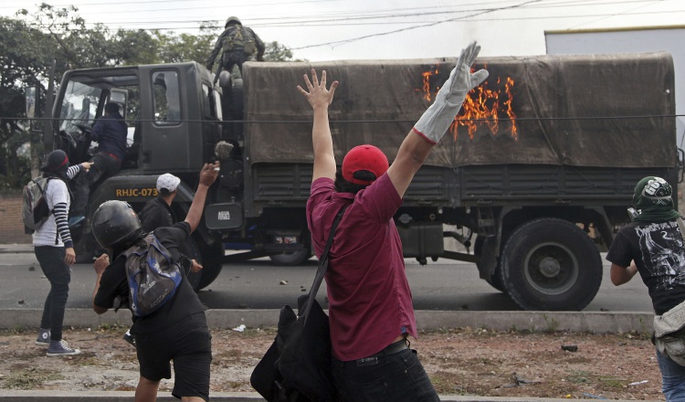
<svg viewBox="0 0 685 402"><path fill-rule="evenodd" d="M406 188L426 162L428 153L448 131L469 90L488 78L488 71L484 69L471 73L471 65L479 51L480 47L476 42L461 50L457 66L437 92L436 101L424 112L400 145L395 162L387 171L399 196L405 196Z"/></svg>

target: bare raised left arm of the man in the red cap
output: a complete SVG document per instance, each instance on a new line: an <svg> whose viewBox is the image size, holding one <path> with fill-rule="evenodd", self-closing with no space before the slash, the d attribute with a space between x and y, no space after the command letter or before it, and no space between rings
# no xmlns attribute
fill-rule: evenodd
<svg viewBox="0 0 685 402"><path fill-rule="evenodd" d="M326 90L326 70L321 71L320 82L316 76L316 71L311 69L311 80L305 74L304 83L307 85L307 90L303 90L300 85L298 85L298 90L310 102L311 110L314 111L314 123L311 128L311 143L314 146L314 173L311 181L320 177L329 177L335 180L337 166L333 154L331 128L328 125L328 106L333 100L338 81L333 81L331 88Z"/></svg>

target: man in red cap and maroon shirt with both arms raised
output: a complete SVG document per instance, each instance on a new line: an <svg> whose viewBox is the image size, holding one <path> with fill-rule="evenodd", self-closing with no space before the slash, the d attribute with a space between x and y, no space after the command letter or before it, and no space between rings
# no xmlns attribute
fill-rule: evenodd
<svg viewBox="0 0 685 402"><path fill-rule="evenodd" d="M312 69L311 80L304 76L307 90L298 86L314 112L307 222L317 256L333 218L348 206L332 242L325 277L332 375L345 401L439 401L416 351L409 349L408 338L416 338L416 320L393 216L469 90L488 77L482 69L470 72L479 50L471 43L461 51L436 101L406 135L390 167L381 150L360 145L345 155L342 171L336 172L328 106L338 81L327 89L326 71L319 81Z"/></svg>

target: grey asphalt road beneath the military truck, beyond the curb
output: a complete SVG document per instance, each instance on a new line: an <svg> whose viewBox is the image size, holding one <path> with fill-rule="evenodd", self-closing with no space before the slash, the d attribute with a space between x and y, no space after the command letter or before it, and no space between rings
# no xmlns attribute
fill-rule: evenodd
<svg viewBox="0 0 685 402"><path fill-rule="evenodd" d="M443 259L427 266L407 259L406 264L416 310L518 310L506 295L478 278L474 264ZM602 287L585 312L652 311L641 280L615 287L607 263L604 269ZM276 267L269 259L225 265L216 281L200 292L200 299L212 309L279 309L284 303L295 304L297 296L309 290L315 270L314 259L299 267ZM68 308L90 309L93 280L89 264L73 266ZM282 281L287 284L280 284ZM324 286L320 299L325 295ZM32 253L0 254L0 309L41 309L48 289Z"/></svg>

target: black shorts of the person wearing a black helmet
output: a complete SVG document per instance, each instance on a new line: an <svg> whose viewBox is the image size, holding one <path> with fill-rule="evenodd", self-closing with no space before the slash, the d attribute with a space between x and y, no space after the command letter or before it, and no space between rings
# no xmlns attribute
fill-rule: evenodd
<svg viewBox="0 0 685 402"><path fill-rule="evenodd" d="M174 361L174 397L209 399L212 334L205 312L197 312L158 333L135 335L141 376L160 381L171 378Z"/></svg>

